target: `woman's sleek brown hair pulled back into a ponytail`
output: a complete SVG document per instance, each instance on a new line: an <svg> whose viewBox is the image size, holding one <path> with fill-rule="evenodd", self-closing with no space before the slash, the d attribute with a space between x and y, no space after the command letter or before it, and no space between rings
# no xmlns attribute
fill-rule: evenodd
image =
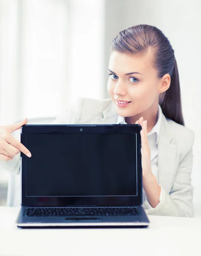
<svg viewBox="0 0 201 256"><path fill-rule="evenodd" d="M176 58L170 41L163 32L146 24L129 27L120 31L113 39L110 47L110 52L112 51L128 54L146 54L153 51L153 66L157 70L158 78L167 73L171 78L169 89L159 95L159 105L166 118L184 125Z"/></svg>

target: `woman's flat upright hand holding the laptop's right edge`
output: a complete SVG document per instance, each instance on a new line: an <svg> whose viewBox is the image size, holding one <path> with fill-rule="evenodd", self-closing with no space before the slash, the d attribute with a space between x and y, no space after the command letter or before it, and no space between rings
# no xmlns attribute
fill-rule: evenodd
<svg viewBox="0 0 201 256"><path fill-rule="evenodd" d="M150 147L147 137L147 120L144 120L143 117L140 117L136 121L136 124L142 126L140 131L141 135L141 155L142 155L142 177L149 178L153 175L151 171L151 157L150 157Z"/></svg>

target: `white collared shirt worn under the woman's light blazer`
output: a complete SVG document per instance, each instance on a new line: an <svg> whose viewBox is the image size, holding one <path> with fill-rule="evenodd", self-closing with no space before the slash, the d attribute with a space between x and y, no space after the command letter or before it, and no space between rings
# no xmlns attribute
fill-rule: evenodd
<svg viewBox="0 0 201 256"><path fill-rule="evenodd" d="M147 133L149 147L150 147L151 171L153 175L156 177L157 182L158 182L158 141L159 141L159 133L161 128L161 113L162 113L161 106L158 105L156 125L154 125L151 131ZM126 125L127 123L125 122L125 117L118 116L117 124ZM164 194L164 190L161 187L161 194L159 198L160 202L163 194ZM144 188L142 188L142 201L144 202L145 200L147 200L147 195L144 191ZM146 205L146 209L152 209L152 208L153 207L148 202L148 204Z"/></svg>

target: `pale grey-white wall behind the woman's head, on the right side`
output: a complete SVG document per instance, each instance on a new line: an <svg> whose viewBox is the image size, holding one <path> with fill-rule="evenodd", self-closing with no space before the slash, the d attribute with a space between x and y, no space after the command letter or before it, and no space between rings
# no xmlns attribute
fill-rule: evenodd
<svg viewBox="0 0 201 256"><path fill-rule="evenodd" d="M162 30L170 40L178 64L181 101L185 125L195 131L192 183L194 208L201 210L201 2L197 0L107 0L105 70L109 48L119 31L137 24L149 24ZM105 76L105 84L108 76ZM105 88L105 97L109 97ZM185 140L185 138L184 138Z"/></svg>

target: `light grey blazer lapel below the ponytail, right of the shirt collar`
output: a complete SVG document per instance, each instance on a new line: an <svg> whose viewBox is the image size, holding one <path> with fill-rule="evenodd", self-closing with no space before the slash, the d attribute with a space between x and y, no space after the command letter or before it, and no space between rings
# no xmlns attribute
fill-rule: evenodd
<svg viewBox="0 0 201 256"><path fill-rule="evenodd" d="M169 133L168 122L164 114L161 116L161 130L158 141L158 183L169 193L174 176L176 160L176 145L171 144L173 140Z"/></svg>

